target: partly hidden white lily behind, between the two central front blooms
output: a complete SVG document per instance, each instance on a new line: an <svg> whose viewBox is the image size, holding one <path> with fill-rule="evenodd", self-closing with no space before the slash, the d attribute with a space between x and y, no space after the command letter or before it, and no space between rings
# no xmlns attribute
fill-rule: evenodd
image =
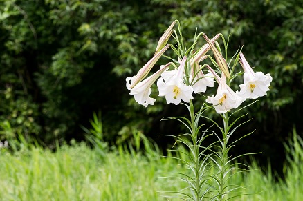
<svg viewBox="0 0 303 201"><path fill-rule="evenodd" d="M192 88L194 88L194 93L205 92L207 87L214 86L214 75L211 72L203 74L200 70L194 77Z"/></svg>

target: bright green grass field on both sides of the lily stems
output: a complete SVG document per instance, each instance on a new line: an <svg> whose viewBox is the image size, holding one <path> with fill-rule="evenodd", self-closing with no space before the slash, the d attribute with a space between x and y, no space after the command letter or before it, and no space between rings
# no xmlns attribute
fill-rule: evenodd
<svg viewBox="0 0 303 201"><path fill-rule="evenodd" d="M234 200L303 200L303 149L300 138L286 146L285 178L274 182L270 173L248 171L232 178L246 186ZM256 168L254 165L253 168ZM158 152L113 149L103 156L85 144L61 146L55 153L23 148L12 154L0 149L0 200L177 200L158 191L176 191L185 184L160 173L182 172Z"/></svg>

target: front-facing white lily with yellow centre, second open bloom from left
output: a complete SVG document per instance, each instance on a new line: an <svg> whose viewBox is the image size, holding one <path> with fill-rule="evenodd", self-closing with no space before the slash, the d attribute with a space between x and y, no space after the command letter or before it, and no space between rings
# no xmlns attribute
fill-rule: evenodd
<svg viewBox="0 0 303 201"><path fill-rule="evenodd" d="M169 76L167 76L167 74L164 74L164 77L158 79L157 86L159 90L159 96L165 96L167 104L173 103L177 105L181 102L181 100L184 102L190 102L190 99L194 98L192 97L192 86L187 86L183 82L185 63L186 56L183 57L178 70L172 77L170 77L172 73L168 71L167 73L170 73Z"/></svg>

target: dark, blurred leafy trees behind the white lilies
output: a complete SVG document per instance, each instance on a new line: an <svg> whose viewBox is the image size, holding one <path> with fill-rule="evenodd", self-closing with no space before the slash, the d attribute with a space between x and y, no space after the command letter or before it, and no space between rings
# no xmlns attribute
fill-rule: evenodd
<svg viewBox="0 0 303 201"><path fill-rule="evenodd" d="M163 147L160 134L181 132L161 117L182 107L138 106L125 77L154 54L174 19L187 39L197 28L230 37L229 56L244 46L252 66L271 73L270 93L248 108L254 119L238 152L262 151L282 163L282 142L302 131L303 8L301 0L0 0L0 138L84 139L93 111L102 111L105 139L122 142L138 128ZM201 43L203 40L201 39ZM275 164L276 163L276 164Z"/></svg>

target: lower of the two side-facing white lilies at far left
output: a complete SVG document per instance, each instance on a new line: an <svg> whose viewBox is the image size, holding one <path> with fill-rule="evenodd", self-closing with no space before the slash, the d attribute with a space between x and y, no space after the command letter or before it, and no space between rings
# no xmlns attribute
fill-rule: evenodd
<svg viewBox="0 0 303 201"><path fill-rule="evenodd" d="M134 88L131 88L131 82L133 82L134 79L136 79L136 76L127 77L126 86L127 86L127 89L130 90L129 94L134 95L134 98L135 98L136 102L138 102L138 104L141 104L145 107L147 107L147 105L149 105L149 104L154 105L154 102L156 102L156 99L149 97L149 95L152 93L151 86L152 86L152 84L154 84L156 79L158 79L158 77L161 75L161 73L163 73L163 71L168 68L169 65L170 65L170 63L166 64L165 66L160 68L160 70L158 70L156 73L154 73L153 75L150 75L143 81L136 84L136 86L134 86Z"/></svg>

